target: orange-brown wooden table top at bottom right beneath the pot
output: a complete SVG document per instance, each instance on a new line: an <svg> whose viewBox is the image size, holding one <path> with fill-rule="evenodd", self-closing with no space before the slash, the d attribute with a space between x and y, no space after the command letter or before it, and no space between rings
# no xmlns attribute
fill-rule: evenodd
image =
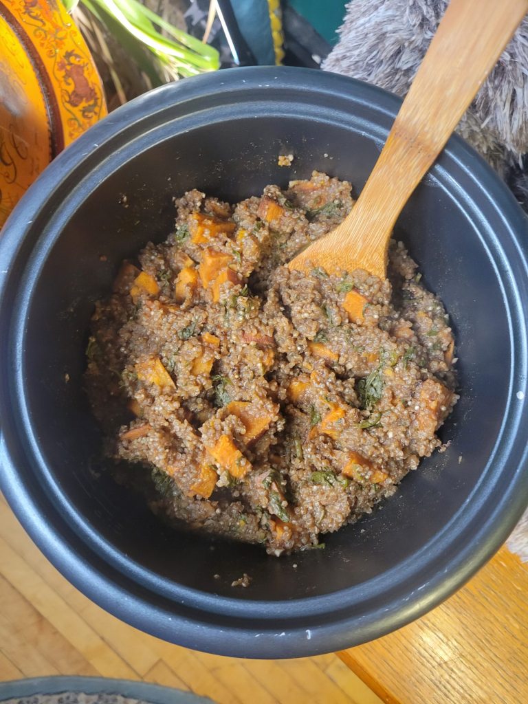
<svg viewBox="0 0 528 704"><path fill-rule="evenodd" d="M528 701L528 565L505 547L448 601L338 653L388 704Z"/></svg>

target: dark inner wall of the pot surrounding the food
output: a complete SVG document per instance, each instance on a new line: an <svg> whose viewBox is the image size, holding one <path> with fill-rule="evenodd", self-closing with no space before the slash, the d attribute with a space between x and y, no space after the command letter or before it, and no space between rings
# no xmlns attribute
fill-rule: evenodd
<svg viewBox="0 0 528 704"><path fill-rule="evenodd" d="M463 510L485 473L510 374L508 320L496 270L442 162L413 195L396 234L419 263L427 287L444 301L455 330L461 398L441 429L448 448L423 460L372 515L327 536L324 550L277 559L258 546L168 529L141 497L108 476L83 390L89 319L94 301L110 291L120 261L170 232L172 196L198 188L234 202L260 194L265 184L309 177L313 169L351 181L357 194L379 142L353 123L322 125L302 115L165 130L151 142L137 146L95 187L76 186L85 188L84 203L49 251L31 294L25 388L55 501L165 585L235 598L324 595L420 559L417 553ZM277 166L282 151L294 154L291 168ZM253 579L251 589L232 589L243 572Z"/></svg>

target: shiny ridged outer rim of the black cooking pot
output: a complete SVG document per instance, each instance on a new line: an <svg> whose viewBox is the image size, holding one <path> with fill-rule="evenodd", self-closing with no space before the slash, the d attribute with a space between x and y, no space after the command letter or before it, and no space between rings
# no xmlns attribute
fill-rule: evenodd
<svg viewBox="0 0 528 704"><path fill-rule="evenodd" d="M39 496L34 486L20 481L17 469L20 448L27 446L28 442L30 446L24 451L30 452L32 463L39 466L39 471L45 472L25 408L23 365L17 363L23 356L23 311L30 301L30 284L38 276L46 251L60 234L60 227L51 225L46 228L44 225L54 220L60 225L61 218L65 222L80 205L82 196L78 184L88 177L82 173L92 174L95 166L99 166L104 150L118 146L119 142L125 144L125 140L134 145L141 140L145 146L146 136L142 135L142 128L155 118L163 125L165 111L179 106L181 118L192 114L186 111L189 107L195 108L196 103L206 103L203 108L206 110L215 100L229 108L233 96L251 92L253 101L257 89L265 103L272 100L267 96L270 87L282 94L296 91L298 96L304 95L307 102L315 95L321 97L321 94L329 93L334 97L343 96L342 100L348 105L352 101L370 106L372 114L377 114L378 123L380 120L384 123L381 127L378 123L372 125L372 130L385 137L401 104L396 96L377 87L336 74L297 68L222 70L220 74L202 75L181 84L163 86L111 113L68 147L27 191L6 223L0 239L0 325L11 333L3 335L4 341L0 342L5 352L0 353L0 461L4 470L0 484L16 515L39 548L70 582L106 610L169 641L177 639L178 643L200 650L256 658L299 657L351 647L414 620L444 601L493 555L528 503L528 472L525 471L528 448L522 440L528 436L528 414L525 413L528 405L528 320L522 306L522 301L528 299L528 240L521 241L517 237L517 233L527 234L527 220L505 184L456 136L448 142L434 167L434 175L447 183L452 180L453 170L458 170L459 175L463 174L470 182L474 193L474 196L468 196L467 189L463 190L456 182L451 184L460 203L465 201L467 208L479 210L475 199L479 203L486 201L503 228L504 241L499 243L495 238L495 249L489 252L489 256L503 287L503 298L508 303L514 355L508 413L495 449L498 451L498 465L503 467L515 462L517 471L515 482L503 491L500 500L494 500L489 513L486 508L491 508L490 496L484 479L491 470L484 471L472 490L474 501L466 508L465 515L461 515L461 511L455 514L430 541L434 546L428 543L420 550L420 553L427 551L429 554L429 569L422 570L423 584L420 582L419 587L410 590L408 582L412 581L415 571L408 564L411 560L408 558L369 582L324 596L282 603L213 596L181 586L168 588L165 580L127 560L89 527L74 525L71 522L75 513L73 507L68 508L63 503L69 518L59 515L56 501L60 503L62 499L56 493L58 487L52 487L55 494L51 498L55 501L50 501L49 496ZM156 139L155 132L153 130L152 139ZM130 158L126 149L120 158ZM102 170L98 168L99 177L105 170L113 170L114 165L108 159ZM73 189L68 182L76 184ZM54 211L51 217L50 211ZM27 220L27 213L32 214L32 220ZM39 236L41 230L42 236ZM13 372L11 379L8 369ZM515 396L517 391L524 393L524 399ZM491 458L488 466L490 463ZM53 524L47 520L49 512L54 515ZM78 544L80 532L83 533L81 547ZM452 538L453 533L457 535L456 540ZM450 549L454 549L453 554ZM435 554L439 555L438 562L432 565ZM382 588L389 572L398 572L399 578L392 575L391 601L387 601L383 608L372 608L372 595L367 593L367 587L372 589L373 583L377 582ZM156 596L156 603L149 601L152 593ZM363 606L363 612L358 612L359 605ZM236 638L230 639L228 634Z"/></svg>

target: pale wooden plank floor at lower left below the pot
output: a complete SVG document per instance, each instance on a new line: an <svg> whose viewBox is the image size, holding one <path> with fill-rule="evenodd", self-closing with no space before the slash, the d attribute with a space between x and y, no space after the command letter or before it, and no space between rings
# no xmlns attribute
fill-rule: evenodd
<svg viewBox="0 0 528 704"><path fill-rule="evenodd" d="M0 680L54 674L142 679L218 704L381 704L337 655L222 658L125 625L61 577L0 495Z"/></svg>

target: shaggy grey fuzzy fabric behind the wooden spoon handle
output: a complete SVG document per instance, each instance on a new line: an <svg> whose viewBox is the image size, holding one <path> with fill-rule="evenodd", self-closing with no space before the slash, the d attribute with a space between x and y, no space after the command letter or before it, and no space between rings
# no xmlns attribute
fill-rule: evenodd
<svg viewBox="0 0 528 704"><path fill-rule="evenodd" d="M498 0L500 1L500 0ZM322 68L404 96L447 0L351 0ZM528 17L457 127L528 206Z"/></svg>

